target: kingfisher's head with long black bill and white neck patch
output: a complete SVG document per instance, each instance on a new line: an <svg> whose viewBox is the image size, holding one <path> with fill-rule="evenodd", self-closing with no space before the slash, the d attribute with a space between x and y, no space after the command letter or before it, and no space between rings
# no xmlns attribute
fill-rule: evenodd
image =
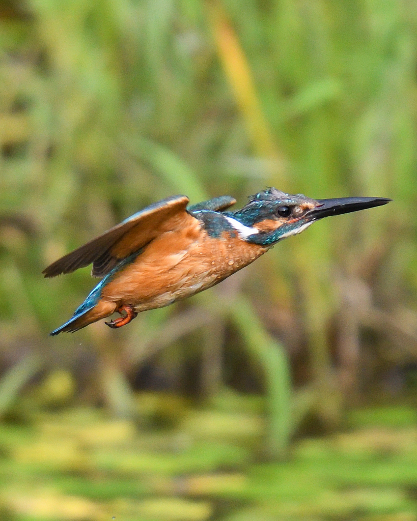
<svg viewBox="0 0 417 521"><path fill-rule="evenodd" d="M225 213L229 223L247 242L273 245L281 239L300 233L314 221L329 215L357 212L391 201L384 197L341 197L309 199L302 194L290 195L268 188L249 198L237 212ZM238 224L232 222L237 221ZM239 227L239 224L241 225Z"/></svg>

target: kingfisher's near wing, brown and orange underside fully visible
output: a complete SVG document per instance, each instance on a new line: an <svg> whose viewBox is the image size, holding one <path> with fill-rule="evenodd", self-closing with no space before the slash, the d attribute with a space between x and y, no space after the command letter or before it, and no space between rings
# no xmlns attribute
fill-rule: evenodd
<svg viewBox="0 0 417 521"><path fill-rule="evenodd" d="M138 252L161 233L177 229L183 221L193 219L186 210L188 203L186 195L173 195L158 201L61 257L42 273L45 277L55 277L93 263L91 274L103 277L121 259Z"/></svg>

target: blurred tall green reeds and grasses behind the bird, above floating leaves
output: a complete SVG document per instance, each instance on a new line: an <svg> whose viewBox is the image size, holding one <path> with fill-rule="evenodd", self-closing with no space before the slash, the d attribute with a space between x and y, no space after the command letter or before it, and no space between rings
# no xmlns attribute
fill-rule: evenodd
<svg viewBox="0 0 417 521"><path fill-rule="evenodd" d="M175 375L203 352L211 392L233 337L266 385L278 454L306 412L332 425L339 391L410 361L412 3L9 0L0 16L0 342L22 364L5 375L3 412L45 359L79 344L101 353L97 387L118 412L129 410L124 374L167 346L160 363ZM326 219L240 278L124 331L47 338L93 286L87 269L44 280L48 263L170 194L244 204L265 185L394 203ZM36 346L43 361L21 361ZM292 407L285 349L297 382L311 383Z"/></svg>

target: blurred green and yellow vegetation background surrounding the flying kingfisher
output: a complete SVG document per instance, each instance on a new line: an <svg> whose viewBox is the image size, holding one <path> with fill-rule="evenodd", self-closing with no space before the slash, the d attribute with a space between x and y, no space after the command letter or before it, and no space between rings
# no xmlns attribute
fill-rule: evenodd
<svg viewBox="0 0 417 521"><path fill-rule="evenodd" d="M2 520L417 519L417 4L3 0ZM48 337L42 269L171 194L394 202Z"/></svg>

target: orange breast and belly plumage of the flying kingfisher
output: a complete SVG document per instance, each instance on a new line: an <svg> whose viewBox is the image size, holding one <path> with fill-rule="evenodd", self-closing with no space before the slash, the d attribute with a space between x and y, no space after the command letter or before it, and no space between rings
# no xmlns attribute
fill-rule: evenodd
<svg viewBox="0 0 417 521"><path fill-rule="evenodd" d="M153 240L103 288L102 300L131 304L138 312L167 306L210 288L267 251L229 234L209 237L194 218L187 224Z"/></svg>

